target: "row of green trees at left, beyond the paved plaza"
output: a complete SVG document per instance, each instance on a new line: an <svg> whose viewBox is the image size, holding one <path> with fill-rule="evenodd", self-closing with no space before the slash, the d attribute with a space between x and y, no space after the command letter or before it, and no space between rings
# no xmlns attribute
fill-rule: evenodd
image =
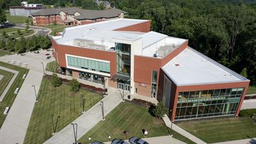
<svg viewBox="0 0 256 144"><path fill-rule="evenodd" d="M50 48L51 41L48 36L32 36L27 39L21 37L20 39L8 38L7 41L2 39L0 41L0 49L8 50L10 52L23 53L27 51L34 51L39 49Z"/></svg>

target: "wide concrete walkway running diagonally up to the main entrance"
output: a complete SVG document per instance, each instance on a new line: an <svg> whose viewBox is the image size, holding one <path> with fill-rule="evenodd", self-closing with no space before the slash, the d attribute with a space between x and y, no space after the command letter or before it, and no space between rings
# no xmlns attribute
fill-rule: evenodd
<svg viewBox="0 0 256 144"><path fill-rule="evenodd" d="M104 114L105 116L111 112L119 103L122 101L120 92L114 90L114 88L109 90L109 95L102 99L104 102ZM82 114L79 118L72 121L72 123L78 124L78 139L80 139L84 134L86 134L94 125L96 125L102 119L100 102L96 103L92 108L90 108L85 114ZM74 142L74 132L72 125L67 125L64 129L58 132L52 138L45 141L45 143L54 144L70 144Z"/></svg>

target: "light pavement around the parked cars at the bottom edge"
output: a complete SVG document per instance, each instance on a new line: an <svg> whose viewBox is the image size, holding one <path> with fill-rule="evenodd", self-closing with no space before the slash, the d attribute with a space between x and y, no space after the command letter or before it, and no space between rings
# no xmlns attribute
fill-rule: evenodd
<svg viewBox="0 0 256 144"><path fill-rule="evenodd" d="M159 136L154 138L143 138L150 144L186 144L183 141L175 139L171 136ZM127 141L127 140L125 140ZM128 141L127 141L128 142ZM104 142L105 144L111 144L111 142Z"/></svg>

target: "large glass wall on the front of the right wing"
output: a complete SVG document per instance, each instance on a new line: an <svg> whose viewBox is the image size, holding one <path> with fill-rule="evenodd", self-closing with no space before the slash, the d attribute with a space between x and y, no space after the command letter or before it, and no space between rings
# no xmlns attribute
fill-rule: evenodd
<svg viewBox="0 0 256 144"><path fill-rule="evenodd" d="M244 88L179 92L175 119L234 115Z"/></svg>

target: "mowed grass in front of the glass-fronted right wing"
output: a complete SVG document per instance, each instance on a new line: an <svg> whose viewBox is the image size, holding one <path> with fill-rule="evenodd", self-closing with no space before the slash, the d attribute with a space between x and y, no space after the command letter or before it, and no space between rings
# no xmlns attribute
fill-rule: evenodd
<svg viewBox="0 0 256 144"><path fill-rule="evenodd" d="M256 137L256 125L250 117L187 121L177 125L206 143Z"/></svg>

